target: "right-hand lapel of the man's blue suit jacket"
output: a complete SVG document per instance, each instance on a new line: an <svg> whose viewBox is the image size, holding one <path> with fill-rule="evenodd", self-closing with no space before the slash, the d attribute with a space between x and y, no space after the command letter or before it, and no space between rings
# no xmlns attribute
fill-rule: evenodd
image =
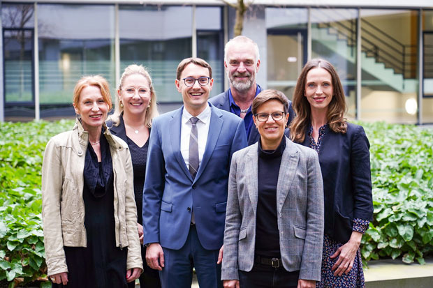
<svg viewBox="0 0 433 288"><path fill-rule="evenodd" d="M214 109L214 107L211 105L209 132L207 133L205 153L203 153L203 158L200 162L200 166L198 167L198 172L194 182L200 178L201 174L203 174L207 162L209 162L210 156L212 156L215 146L217 146L219 135L221 134L221 128L223 127L222 116L223 114L221 114L221 112L219 112L217 109Z"/></svg>

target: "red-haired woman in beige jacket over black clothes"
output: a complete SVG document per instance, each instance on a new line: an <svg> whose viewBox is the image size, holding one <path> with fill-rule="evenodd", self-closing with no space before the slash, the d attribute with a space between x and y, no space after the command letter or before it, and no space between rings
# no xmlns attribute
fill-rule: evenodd
<svg viewBox="0 0 433 288"><path fill-rule="evenodd" d="M45 259L53 287L127 287L142 271L133 170L126 143L110 134L108 82L75 85L73 130L50 139L43 159Z"/></svg>

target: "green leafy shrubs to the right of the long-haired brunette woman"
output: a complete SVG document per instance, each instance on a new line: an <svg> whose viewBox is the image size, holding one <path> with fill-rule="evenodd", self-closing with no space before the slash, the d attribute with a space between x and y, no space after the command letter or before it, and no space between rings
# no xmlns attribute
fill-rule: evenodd
<svg viewBox="0 0 433 288"><path fill-rule="evenodd" d="M363 123L371 148L374 221L362 237L365 260L433 253L433 130Z"/></svg>

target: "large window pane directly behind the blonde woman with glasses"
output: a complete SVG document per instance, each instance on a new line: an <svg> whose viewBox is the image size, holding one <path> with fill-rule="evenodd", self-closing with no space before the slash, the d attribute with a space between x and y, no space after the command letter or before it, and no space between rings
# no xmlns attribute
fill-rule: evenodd
<svg viewBox="0 0 433 288"><path fill-rule="evenodd" d="M121 69L132 63L147 66L158 102L182 102L176 69L191 56L191 19L191 6L119 6Z"/></svg>

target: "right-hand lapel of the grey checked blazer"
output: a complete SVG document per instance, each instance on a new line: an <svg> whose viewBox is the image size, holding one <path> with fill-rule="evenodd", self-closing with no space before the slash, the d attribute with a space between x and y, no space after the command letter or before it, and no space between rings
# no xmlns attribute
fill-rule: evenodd
<svg viewBox="0 0 433 288"><path fill-rule="evenodd" d="M286 137L284 137L286 139ZM296 149L295 144L286 139L286 149L284 149L279 167L277 183L277 211L281 212L284 202L288 196L288 191L293 184L293 179L298 169L300 152Z"/></svg>

